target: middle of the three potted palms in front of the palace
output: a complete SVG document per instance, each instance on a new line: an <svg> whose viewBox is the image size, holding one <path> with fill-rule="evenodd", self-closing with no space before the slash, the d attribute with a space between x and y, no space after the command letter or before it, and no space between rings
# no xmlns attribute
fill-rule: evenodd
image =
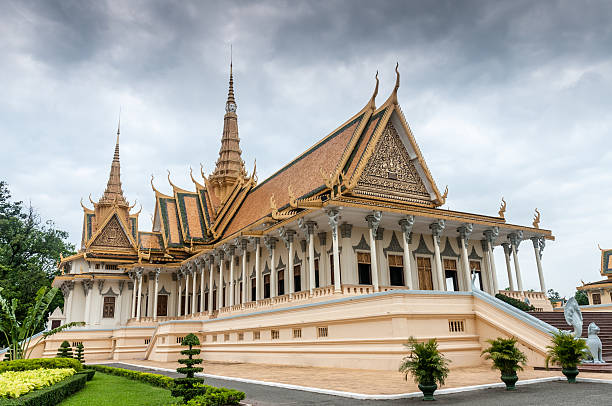
<svg viewBox="0 0 612 406"><path fill-rule="evenodd" d="M516 338L498 337L487 340L491 346L482 352L485 359L493 361L492 369L501 372L501 380L506 384L506 390L515 390L518 376L516 371L522 371L527 362L527 356L516 347Z"/></svg>

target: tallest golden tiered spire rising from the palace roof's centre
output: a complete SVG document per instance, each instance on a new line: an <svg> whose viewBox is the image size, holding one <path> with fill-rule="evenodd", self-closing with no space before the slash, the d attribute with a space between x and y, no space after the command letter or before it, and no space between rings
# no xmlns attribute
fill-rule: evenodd
<svg viewBox="0 0 612 406"><path fill-rule="evenodd" d="M240 137L238 137L238 116L236 115L236 99L234 98L234 73L230 60L230 78L227 101L225 102L225 116L223 117L223 135L221 136L221 149L214 172L208 180L213 192L223 200L233 189L240 178L246 177L242 151L240 150Z"/></svg>

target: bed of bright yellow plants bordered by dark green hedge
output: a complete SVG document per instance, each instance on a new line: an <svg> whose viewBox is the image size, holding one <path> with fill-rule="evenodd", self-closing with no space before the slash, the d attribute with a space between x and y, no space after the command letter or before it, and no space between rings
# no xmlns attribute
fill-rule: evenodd
<svg viewBox="0 0 612 406"><path fill-rule="evenodd" d="M3 372L0 374L0 397L18 398L35 389L62 381L75 372L71 368Z"/></svg>

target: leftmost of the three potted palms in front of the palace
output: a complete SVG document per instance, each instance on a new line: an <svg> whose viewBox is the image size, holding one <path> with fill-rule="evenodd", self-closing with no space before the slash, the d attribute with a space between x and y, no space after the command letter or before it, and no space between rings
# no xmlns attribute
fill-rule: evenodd
<svg viewBox="0 0 612 406"><path fill-rule="evenodd" d="M444 385L450 360L440 353L435 339L419 343L410 337L404 345L410 350L410 354L402 360L400 372L405 374L406 379L408 373L412 374L414 382L423 392L423 400L435 400L433 393L438 389L438 384Z"/></svg>

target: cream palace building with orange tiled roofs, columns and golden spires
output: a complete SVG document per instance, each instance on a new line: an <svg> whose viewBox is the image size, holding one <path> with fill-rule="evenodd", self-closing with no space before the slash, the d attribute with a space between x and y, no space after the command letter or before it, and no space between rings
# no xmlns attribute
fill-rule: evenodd
<svg viewBox="0 0 612 406"><path fill-rule="evenodd" d="M397 68L396 68L397 72ZM83 207L81 249L53 285L65 298L53 325L84 327L36 347L83 342L89 359L172 361L188 333L208 360L397 369L410 336L435 337L453 365L478 365L485 340L516 336L540 362L550 326L494 295L550 309L541 263L549 230L442 208L395 87L259 181L241 158L230 68L215 170L158 190L151 230L120 180L119 130L100 199ZM158 186L156 186L158 183ZM505 269L496 269L494 250ZM518 251L535 255L527 291ZM357 364L356 364L357 362Z"/></svg>

